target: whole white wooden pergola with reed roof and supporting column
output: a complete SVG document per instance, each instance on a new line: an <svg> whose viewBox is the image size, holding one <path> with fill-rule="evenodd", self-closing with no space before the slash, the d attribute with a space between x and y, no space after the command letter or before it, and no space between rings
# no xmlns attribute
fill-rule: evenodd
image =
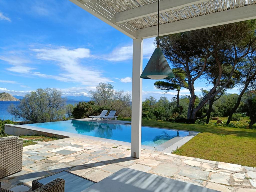
<svg viewBox="0 0 256 192"><path fill-rule="evenodd" d="M157 36L158 0L70 0L133 39L131 156L141 156L142 45ZM256 0L161 0L159 36L256 19Z"/></svg>

